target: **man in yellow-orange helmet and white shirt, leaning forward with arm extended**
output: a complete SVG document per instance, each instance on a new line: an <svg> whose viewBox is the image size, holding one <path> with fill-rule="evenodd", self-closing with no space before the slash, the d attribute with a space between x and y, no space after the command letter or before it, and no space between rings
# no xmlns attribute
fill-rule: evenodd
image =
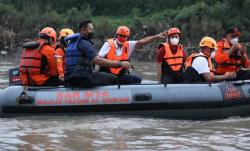
<svg viewBox="0 0 250 151"><path fill-rule="evenodd" d="M226 72L223 75L214 75L211 61L211 53L217 48L216 41L211 37L204 37L200 44L200 53L194 53L186 62L185 83L216 82L235 78L234 72Z"/></svg>

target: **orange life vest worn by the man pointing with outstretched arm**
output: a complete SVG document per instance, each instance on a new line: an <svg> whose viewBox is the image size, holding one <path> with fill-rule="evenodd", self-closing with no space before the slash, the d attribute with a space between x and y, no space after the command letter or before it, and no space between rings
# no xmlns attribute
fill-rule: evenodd
<svg viewBox="0 0 250 151"><path fill-rule="evenodd" d="M109 49L109 52L107 54L107 59L112 60L112 61L122 61L122 60L125 61L125 60L128 60L128 48L129 48L129 42L128 41L123 43L122 55L120 55L120 56L116 55L115 40L114 39L109 39L108 44L109 44L110 49ZM122 69L123 69L122 67L109 68L110 72L113 73L113 74L116 74L116 75L118 75Z"/></svg>

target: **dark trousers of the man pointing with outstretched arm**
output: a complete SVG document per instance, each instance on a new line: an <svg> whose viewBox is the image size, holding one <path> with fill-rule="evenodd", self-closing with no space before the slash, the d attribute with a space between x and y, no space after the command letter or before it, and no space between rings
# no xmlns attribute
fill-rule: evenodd
<svg viewBox="0 0 250 151"><path fill-rule="evenodd" d="M131 74L122 74L119 76L120 84L140 84L141 77Z"/></svg>

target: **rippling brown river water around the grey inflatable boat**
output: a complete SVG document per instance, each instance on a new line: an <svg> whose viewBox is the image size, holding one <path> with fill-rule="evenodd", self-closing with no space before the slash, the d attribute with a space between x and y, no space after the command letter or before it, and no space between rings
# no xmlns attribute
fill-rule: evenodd
<svg viewBox="0 0 250 151"><path fill-rule="evenodd" d="M0 82L7 69L0 63ZM136 74L155 80L155 64ZM119 116L0 118L0 150L250 150L250 118L181 121Z"/></svg>

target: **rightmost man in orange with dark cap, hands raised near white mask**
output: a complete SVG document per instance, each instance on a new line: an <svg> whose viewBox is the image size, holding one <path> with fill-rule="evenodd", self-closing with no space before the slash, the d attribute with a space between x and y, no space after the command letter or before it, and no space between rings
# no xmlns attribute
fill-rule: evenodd
<svg viewBox="0 0 250 151"><path fill-rule="evenodd" d="M250 79L250 71L246 70L249 64L246 47L238 42L240 35L237 28L229 28L225 38L217 42L218 50L214 57L217 74L236 72L237 76L233 80Z"/></svg>

